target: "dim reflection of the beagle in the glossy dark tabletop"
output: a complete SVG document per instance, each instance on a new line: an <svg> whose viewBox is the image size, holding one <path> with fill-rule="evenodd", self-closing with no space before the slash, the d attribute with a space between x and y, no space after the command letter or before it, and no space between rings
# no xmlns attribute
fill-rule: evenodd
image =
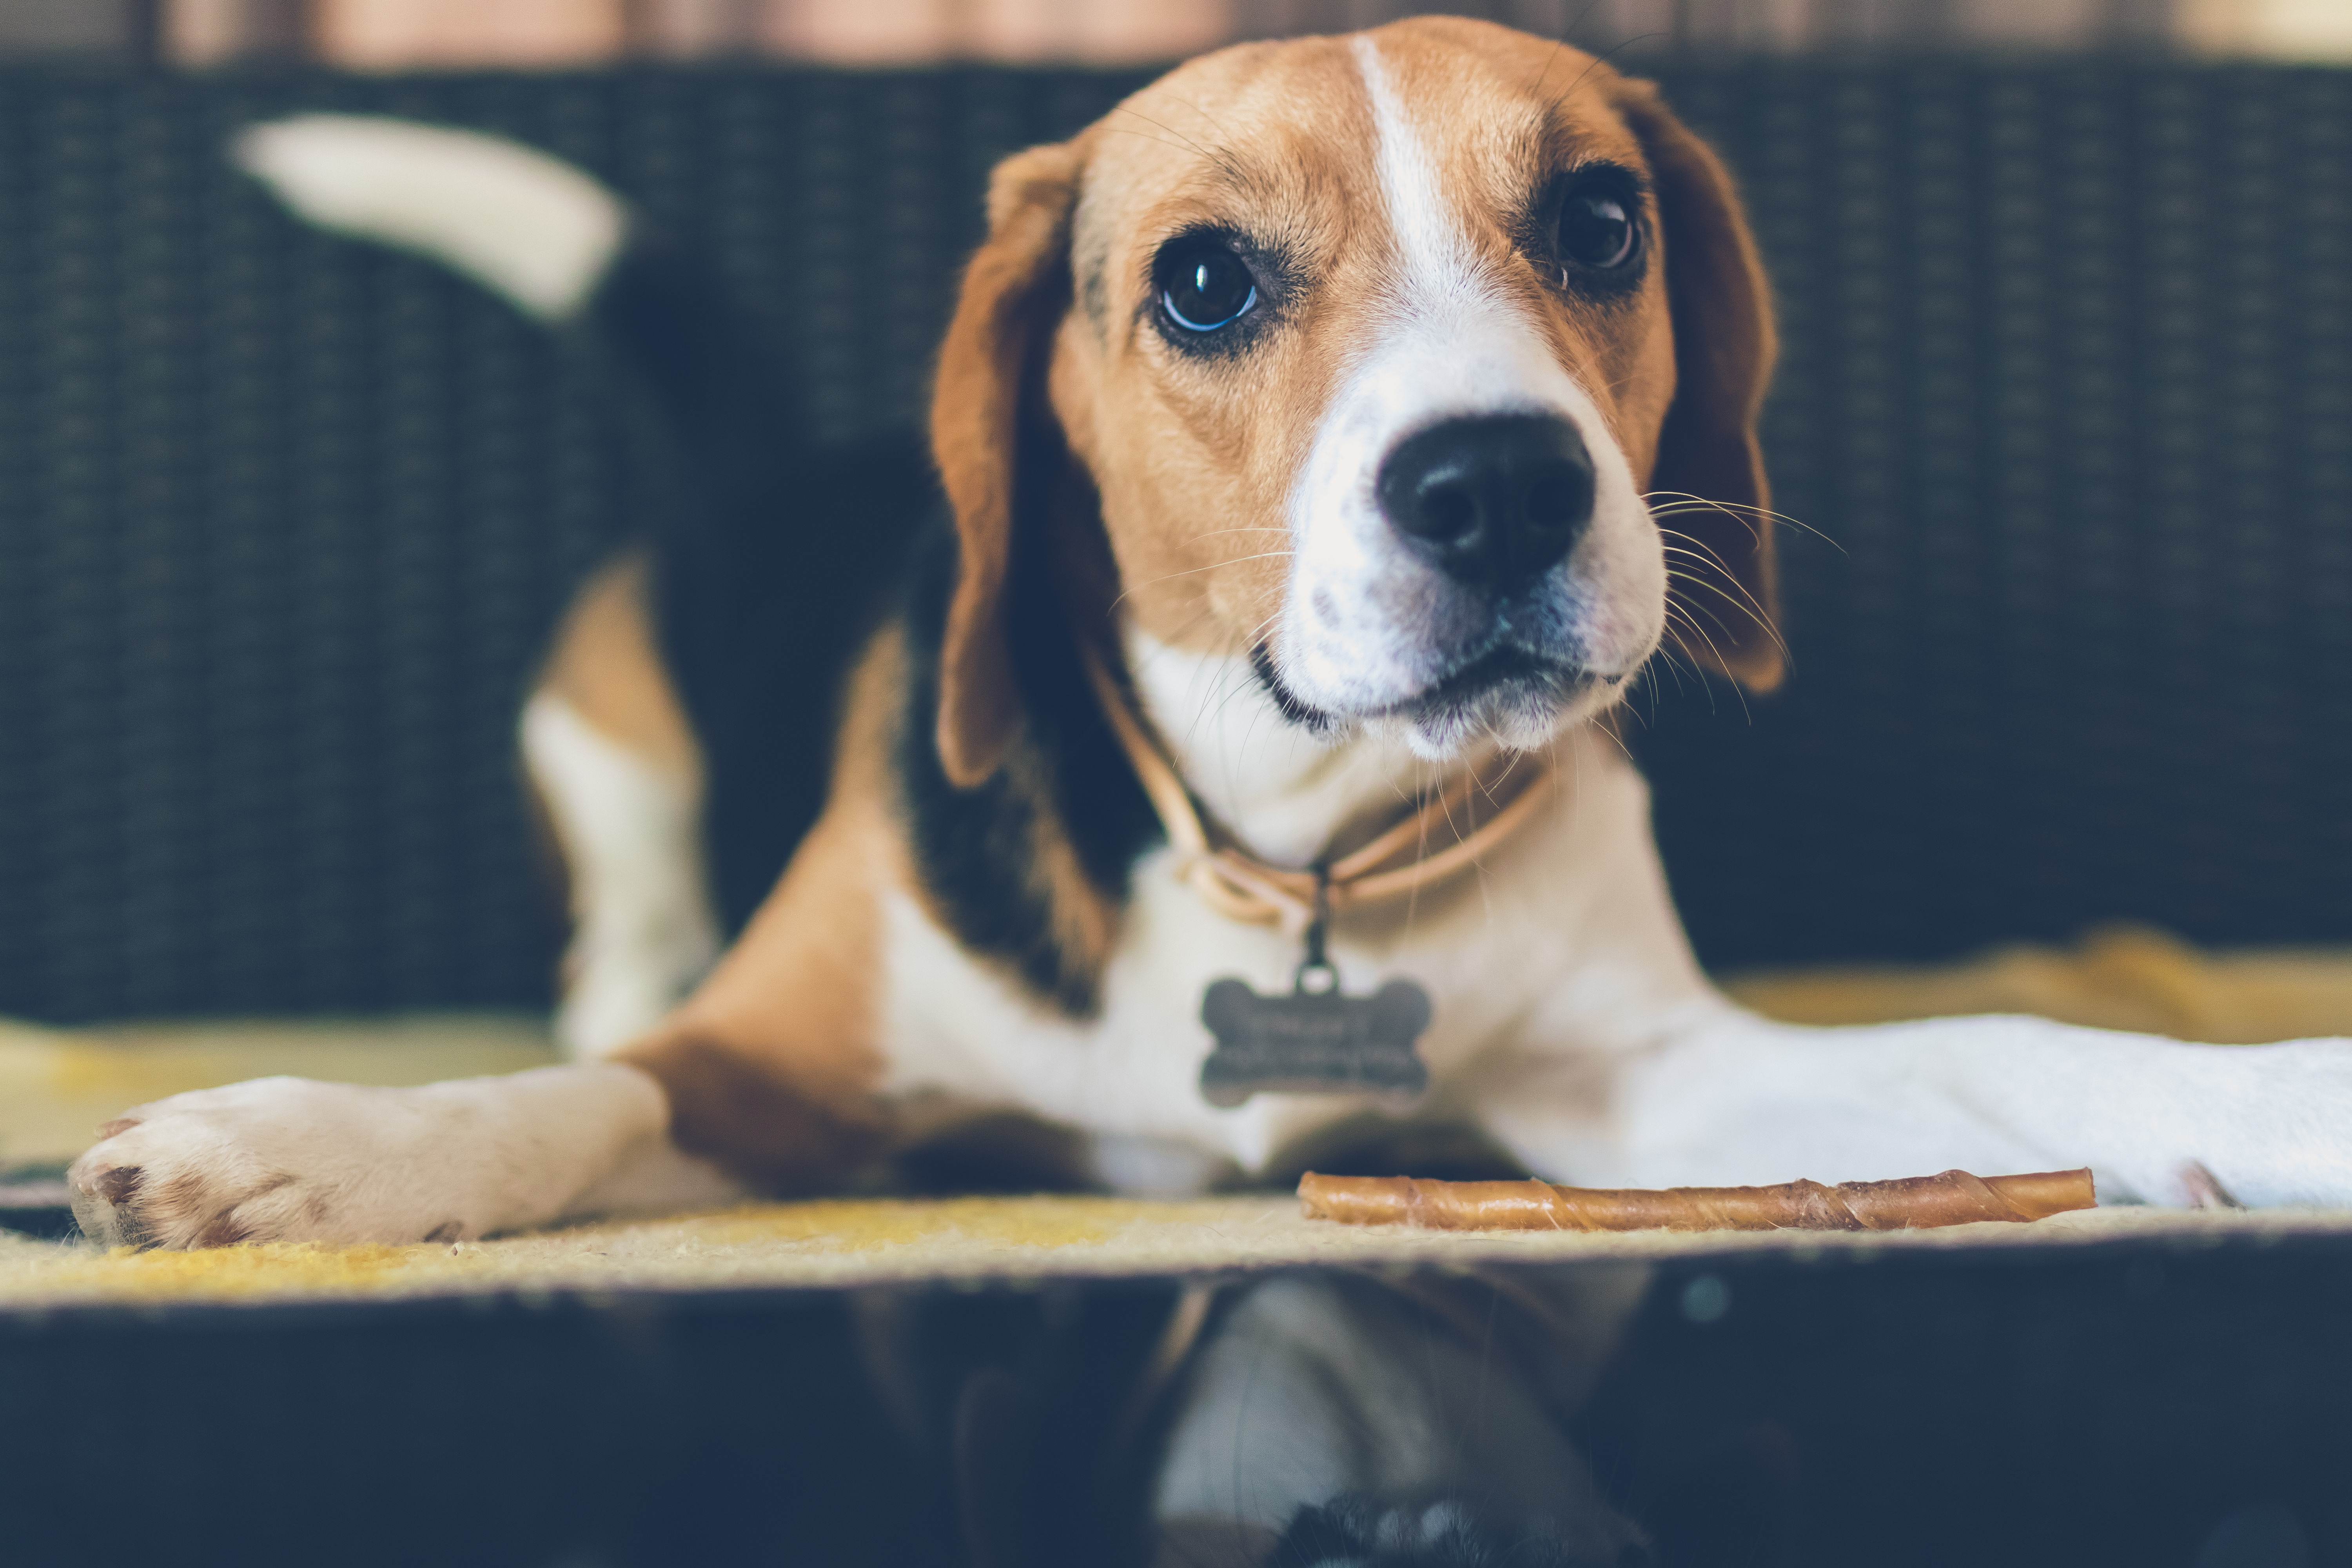
<svg viewBox="0 0 2352 1568"><path fill-rule="evenodd" d="M976 1568L1651 1563L1569 1436L1635 1265L875 1293L882 1401ZM1710 1559L1712 1561L1712 1559Z"/></svg>

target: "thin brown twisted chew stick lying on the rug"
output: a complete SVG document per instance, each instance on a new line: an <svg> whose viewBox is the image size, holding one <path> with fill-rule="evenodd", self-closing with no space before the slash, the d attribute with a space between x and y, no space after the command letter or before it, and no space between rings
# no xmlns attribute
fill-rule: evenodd
<svg viewBox="0 0 2352 1568"><path fill-rule="evenodd" d="M1785 1182L1663 1192L1312 1171L1298 1178L1298 1208L1310 1220L1425 1229L1926 1229L1971 1220L2042 1220L2096 1201L2091 1171L1945 1171L1835 1187Z"/></svg>

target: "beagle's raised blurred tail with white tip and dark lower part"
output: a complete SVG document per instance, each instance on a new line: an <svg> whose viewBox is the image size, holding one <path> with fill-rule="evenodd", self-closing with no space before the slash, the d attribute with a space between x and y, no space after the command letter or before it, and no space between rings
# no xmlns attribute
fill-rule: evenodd
<svg viewBox="0 0 2352 1568"><path fill-rule="evenodd" d="M485 132L372 115L242 129L230 160L315 228L473 277L548 327L600 339L703 482L790 480L804 430L764 334L708 268L644 233L586 169Z"/></svg>

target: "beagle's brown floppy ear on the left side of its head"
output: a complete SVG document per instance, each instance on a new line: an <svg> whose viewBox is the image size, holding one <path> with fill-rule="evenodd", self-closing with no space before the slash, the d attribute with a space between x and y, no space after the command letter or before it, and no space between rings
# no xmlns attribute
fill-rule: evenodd
<svg viewBox="0 0 2352 1568"><path fill-rule="evenodd" d="M957 578L938 651L938 762L960 788L985 783L1014 726L1004 578L1014 468L1035 348L1070 299L1077 141L1030 148L988 179L988 240L964 268L931 388L931 456L955 510Z"/></svg>

